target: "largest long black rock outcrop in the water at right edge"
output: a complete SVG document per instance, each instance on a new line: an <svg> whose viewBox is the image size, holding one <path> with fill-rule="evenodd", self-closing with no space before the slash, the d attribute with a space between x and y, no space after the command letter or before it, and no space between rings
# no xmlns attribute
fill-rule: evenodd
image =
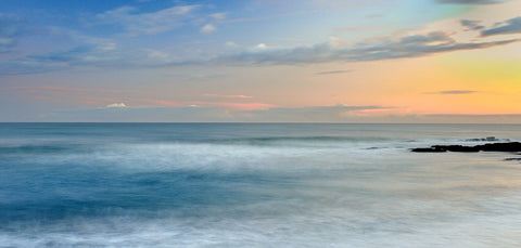
<svg viewBox="0 0 521 248"><path fill-rule="evenodd" d="M433 145L431 147L419 147L410 149L415 153L478 153L478 152L521 152L521 143L488 143L483 145L465 146L465 145Z"/></svg>

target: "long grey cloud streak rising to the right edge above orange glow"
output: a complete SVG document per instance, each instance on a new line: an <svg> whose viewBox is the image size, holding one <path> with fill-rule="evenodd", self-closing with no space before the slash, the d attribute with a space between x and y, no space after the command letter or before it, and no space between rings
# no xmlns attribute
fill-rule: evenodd
<svg viewBox="0 0 521 248"><path fill-rule="evenodd" d="M405 36L398 39L384 38L372 42L358 43L351 48L339 48L331 43L321 43L313 47L243 52L236 55L217 57L209 62L231 65L251 65L304 64L334 61L380 61L427 56L462 50L486 49L517 41L519 40L510 39L492 42L459 43L446 32L434 31L427 35Z"/></svg>

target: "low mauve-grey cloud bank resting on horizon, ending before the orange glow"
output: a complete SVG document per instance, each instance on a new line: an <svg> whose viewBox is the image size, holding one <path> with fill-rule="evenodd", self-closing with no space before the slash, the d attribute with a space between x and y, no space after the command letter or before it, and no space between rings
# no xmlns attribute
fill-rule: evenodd
<svg viewBox="0 0 521 248"><path fill-rule="evenodd" d="M370 120L370 112L392 109L382 106L309 106L276 107L274 105L250 104L231 105L216 103L213 105L127 107L117 112L117 107L82 109L76 112L56 112L53 121L240 121L240 122L346 122ZM50 120L50 121L52 121ZM41 121L41 120L40 120Z"/></svg>

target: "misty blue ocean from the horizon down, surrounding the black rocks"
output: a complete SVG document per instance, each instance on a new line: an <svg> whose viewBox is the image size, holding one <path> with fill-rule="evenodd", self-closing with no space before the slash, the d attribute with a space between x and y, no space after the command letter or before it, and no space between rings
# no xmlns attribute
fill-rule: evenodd
<svg viewBox="0 0 521 248"><path fill-rule="evenodd" d="M521 247L519 125L0 123L0 247ZM478 140L476 140L478 139Z"/></svg>

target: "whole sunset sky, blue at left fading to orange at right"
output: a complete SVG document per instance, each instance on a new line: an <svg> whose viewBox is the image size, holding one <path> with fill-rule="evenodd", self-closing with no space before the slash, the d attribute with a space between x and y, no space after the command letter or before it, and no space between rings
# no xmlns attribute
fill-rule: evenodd
<svg viewBox="0 0 521 248"><path fill-rule="evenodd" d="M521 123L521 0L0 1L0 121Z"/></svg>

